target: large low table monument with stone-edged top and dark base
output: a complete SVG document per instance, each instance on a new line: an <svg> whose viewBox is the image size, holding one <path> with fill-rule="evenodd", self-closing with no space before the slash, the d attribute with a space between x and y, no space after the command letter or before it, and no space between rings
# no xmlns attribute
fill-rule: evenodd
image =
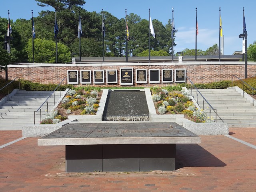
<svg viewBox="0 0 256 192"><path fill-rule="evenodd" d="M72 123L38 139L66 146L67 172L175 170L176 144L201 138L176 123Z"/></svg>

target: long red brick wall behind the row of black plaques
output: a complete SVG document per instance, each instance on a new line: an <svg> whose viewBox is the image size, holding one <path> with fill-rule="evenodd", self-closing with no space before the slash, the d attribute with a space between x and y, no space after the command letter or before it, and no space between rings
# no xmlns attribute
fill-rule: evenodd
<svg viewBox="0 0 256 192"><path fill-rule="evenodd" d="M32 82L44 84L58 84L63 78L67 77L67 70L78 70L80 84L80 70L92 71L91 86L121 86L120 85L120 68L133 68L134 85L133 86L155 86L166 85L162 83L162 68L173 69L185 68L186 75L193 83L210 83L221 80L231 80L232 75L244 78L244 63L242 62L201 62L201 63L127 63L126 64L19 64L8 66L8 79L12 80L20 77ZM118 70L118 83L106 84L106 69ZM136 83L136 69L160 69L160 83ZM93 70L105 70L105 84L93 83ZM256 75L256 63L248 63L247 77ZM5 72L0 72L0 78L5 78ZM173 79L174 81L174 79ZM147 79L148 82L148 79ZM67 81L66 81L67 83ZM123 86L123 85L122 85ZM127 86L127 85L126 85Z"/></svg>

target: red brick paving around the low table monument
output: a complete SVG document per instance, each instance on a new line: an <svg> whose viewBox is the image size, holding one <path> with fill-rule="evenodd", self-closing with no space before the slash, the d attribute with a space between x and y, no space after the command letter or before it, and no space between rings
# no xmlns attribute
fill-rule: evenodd
<svg viewBox="0 0 256 192"><path fill-rule="evenodd" d="M231 128L231 136L255 145L256 128ZM0 131L0 145L22 137ZM64 146L37 146L25 138L0 149L0 191L45 192L255 192L256 150L226 136L177 144L172 172L66 173Z"/></svg>

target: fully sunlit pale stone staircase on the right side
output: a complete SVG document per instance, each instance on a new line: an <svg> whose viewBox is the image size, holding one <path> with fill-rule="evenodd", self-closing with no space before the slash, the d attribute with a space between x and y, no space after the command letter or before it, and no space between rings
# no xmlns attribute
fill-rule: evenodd
<svg viewBox="0 0 256 192"><path fill-rule="evenodd" d="M191 93L191 90L189 90ZM229 127L256 127L256 107L235 89L200 89L200 93L217 110L217 122L227 123ZM196 90L192 90L196 99ZM198 105L203 108L203 99L198 94ZM209 106L204 102L204 110L209 115ZM211 110L215 119L215 112Z"/></svg>

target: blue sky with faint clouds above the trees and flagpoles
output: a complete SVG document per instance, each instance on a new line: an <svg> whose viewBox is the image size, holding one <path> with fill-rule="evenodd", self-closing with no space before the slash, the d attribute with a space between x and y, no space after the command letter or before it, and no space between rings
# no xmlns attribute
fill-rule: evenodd
<svg viewBox="0 0 256 192"><path fill-rule="evenodd" d="M42 8L35 0L3 0L0 6L0 17L8 18L31 18L38 16L41 10L53 10L52 8ZM24 3L26 2L26 3ZM125 17L127 14L134 13L142 19L148 20L148 9L152 20L157 19L164 25L168 19L172 19L172 8L174 8L174 23L178 30L176 33L174 52L179 52L185 48L195 48L195 16L198 16L199 34L197 36L197 48L206 50L213 44L219 42L219 7L221 7L222 27L224 34L224 54L233 54L234 51L242 50L242 38L238 35L242 33L242 14L245 10L246 29L248 31L248 45L256 40L256 0L86 0L83 8L92 12L110 12L117 18Z"/></svg>

